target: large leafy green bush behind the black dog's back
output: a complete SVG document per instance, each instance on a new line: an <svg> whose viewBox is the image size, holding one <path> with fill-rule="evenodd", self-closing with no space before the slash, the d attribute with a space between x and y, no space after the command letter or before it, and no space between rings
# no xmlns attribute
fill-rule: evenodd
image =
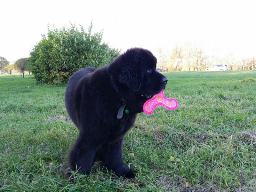
<svg viewBox="0 0 256 192"><path fill-rule="evenodd" d="M83 67L102 67L120 54L108 44L101 44L102 31L92 34L92 24L85 32L76 25L71 28L48 27L47 37L30 52L30 70L36 81L51 84L67 83L69 77Z"/></svg>

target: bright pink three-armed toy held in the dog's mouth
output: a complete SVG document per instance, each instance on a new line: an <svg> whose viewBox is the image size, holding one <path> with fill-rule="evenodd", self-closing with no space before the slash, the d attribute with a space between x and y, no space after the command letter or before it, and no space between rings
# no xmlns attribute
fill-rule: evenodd
<svg viewBox="0 0 256 192"><path fill-rule="evenodd" d="M147 114L151 114L158 105L162 105L169 110L174 110L178 107L178 101L176 99L166 98L164 96L164 90L162 90L144 103L143 111Z"/></svg>

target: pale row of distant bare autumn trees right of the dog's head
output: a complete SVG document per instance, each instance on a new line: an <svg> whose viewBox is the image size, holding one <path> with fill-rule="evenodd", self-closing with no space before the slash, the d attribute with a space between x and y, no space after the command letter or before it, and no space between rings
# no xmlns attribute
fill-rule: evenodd
<svg viewBox="0 0 256 192"><path fill-rule="evenodd" d="M179 67L176 66L176 59L181 59ZM239 60L236 55L230 53L225 58L220 58L205 54L199 45L192 43L176 44L171 52L159 48L157 60L157 66L166 71L204 71L213 65L228 65L229 70L255 70L256 68L256 57Z"/></svg>

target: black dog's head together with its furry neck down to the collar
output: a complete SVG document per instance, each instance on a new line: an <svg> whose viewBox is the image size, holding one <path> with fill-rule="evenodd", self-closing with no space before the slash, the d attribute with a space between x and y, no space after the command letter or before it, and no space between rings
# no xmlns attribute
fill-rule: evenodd
<svg viewBox="0 0 256 192"><path fill-rule="evenodd" d="M109 64L108 73L119 100L127 104L132 113L142 112L143 104L161 92L168 81L156 71L156 57L142 48L132 48L119 55ZM124 110L122 106L118 114Z"/></svg>

